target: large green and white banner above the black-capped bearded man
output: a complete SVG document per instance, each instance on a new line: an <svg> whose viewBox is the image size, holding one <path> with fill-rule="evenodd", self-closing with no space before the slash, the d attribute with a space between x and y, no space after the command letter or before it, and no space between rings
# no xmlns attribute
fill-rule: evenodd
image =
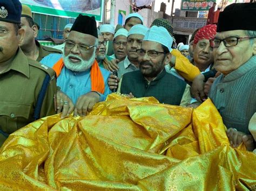
<svg viewBox="0 0 256 191"><path fill-rule="evenodd" d="M76 18L79 14L103 20L104 0L20 0L29 5L32 12L58 17Z"/></svg>

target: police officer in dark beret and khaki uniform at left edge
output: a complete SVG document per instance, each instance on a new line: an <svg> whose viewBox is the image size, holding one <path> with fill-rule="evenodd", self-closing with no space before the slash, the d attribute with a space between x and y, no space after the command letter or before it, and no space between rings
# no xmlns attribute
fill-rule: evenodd
<svg viewBox="0 0 256 191"><path fill-rule="evenodd" d="M35 119L56 114L55 72L19 48L21 10L19 0L0 1L0 145Z"/></svg>

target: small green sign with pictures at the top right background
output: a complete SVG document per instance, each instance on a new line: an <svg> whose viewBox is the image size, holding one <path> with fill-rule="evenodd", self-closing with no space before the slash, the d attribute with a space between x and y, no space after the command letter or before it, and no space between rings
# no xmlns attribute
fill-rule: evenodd
<svg viewBox="0 0 256 191"><path fill-rule="evenodd" d="M215 1L182 0L181 11L208 11Z"/></svg>

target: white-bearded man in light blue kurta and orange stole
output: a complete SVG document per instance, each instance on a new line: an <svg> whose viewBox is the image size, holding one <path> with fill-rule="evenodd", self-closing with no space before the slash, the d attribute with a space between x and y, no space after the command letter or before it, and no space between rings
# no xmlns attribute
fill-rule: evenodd
<svg viewBox="0 0 256 191"><path fill-rule="evenodd" d="M90 27L86 27L90 26ZM97 26L94 17L79 15L65 40L64 54L50 54L41 63L57 75L57 112L62 117L85 116L93 106L111 93L107 86L110 72L98 66Z"/></svg>

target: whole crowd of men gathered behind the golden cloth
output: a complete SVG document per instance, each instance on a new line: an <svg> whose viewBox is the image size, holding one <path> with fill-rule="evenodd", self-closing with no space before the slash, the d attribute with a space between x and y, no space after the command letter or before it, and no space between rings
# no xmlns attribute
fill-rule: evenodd
<svg viewBox="0 0 256 191"><path fill-rule="evenodd" d="M254 150L248 124L256 111L256 3L227 6L217 25L196 30L190 45L178 49L168 20L148 28L138 13L116 30L109 24L97 29L94 17L79 15L65 26L58 49L44 47L28 6L18 0L0 6L1 145L36 119L85 116L117 90L193 108L208 96L231 145Z"/></svg>

